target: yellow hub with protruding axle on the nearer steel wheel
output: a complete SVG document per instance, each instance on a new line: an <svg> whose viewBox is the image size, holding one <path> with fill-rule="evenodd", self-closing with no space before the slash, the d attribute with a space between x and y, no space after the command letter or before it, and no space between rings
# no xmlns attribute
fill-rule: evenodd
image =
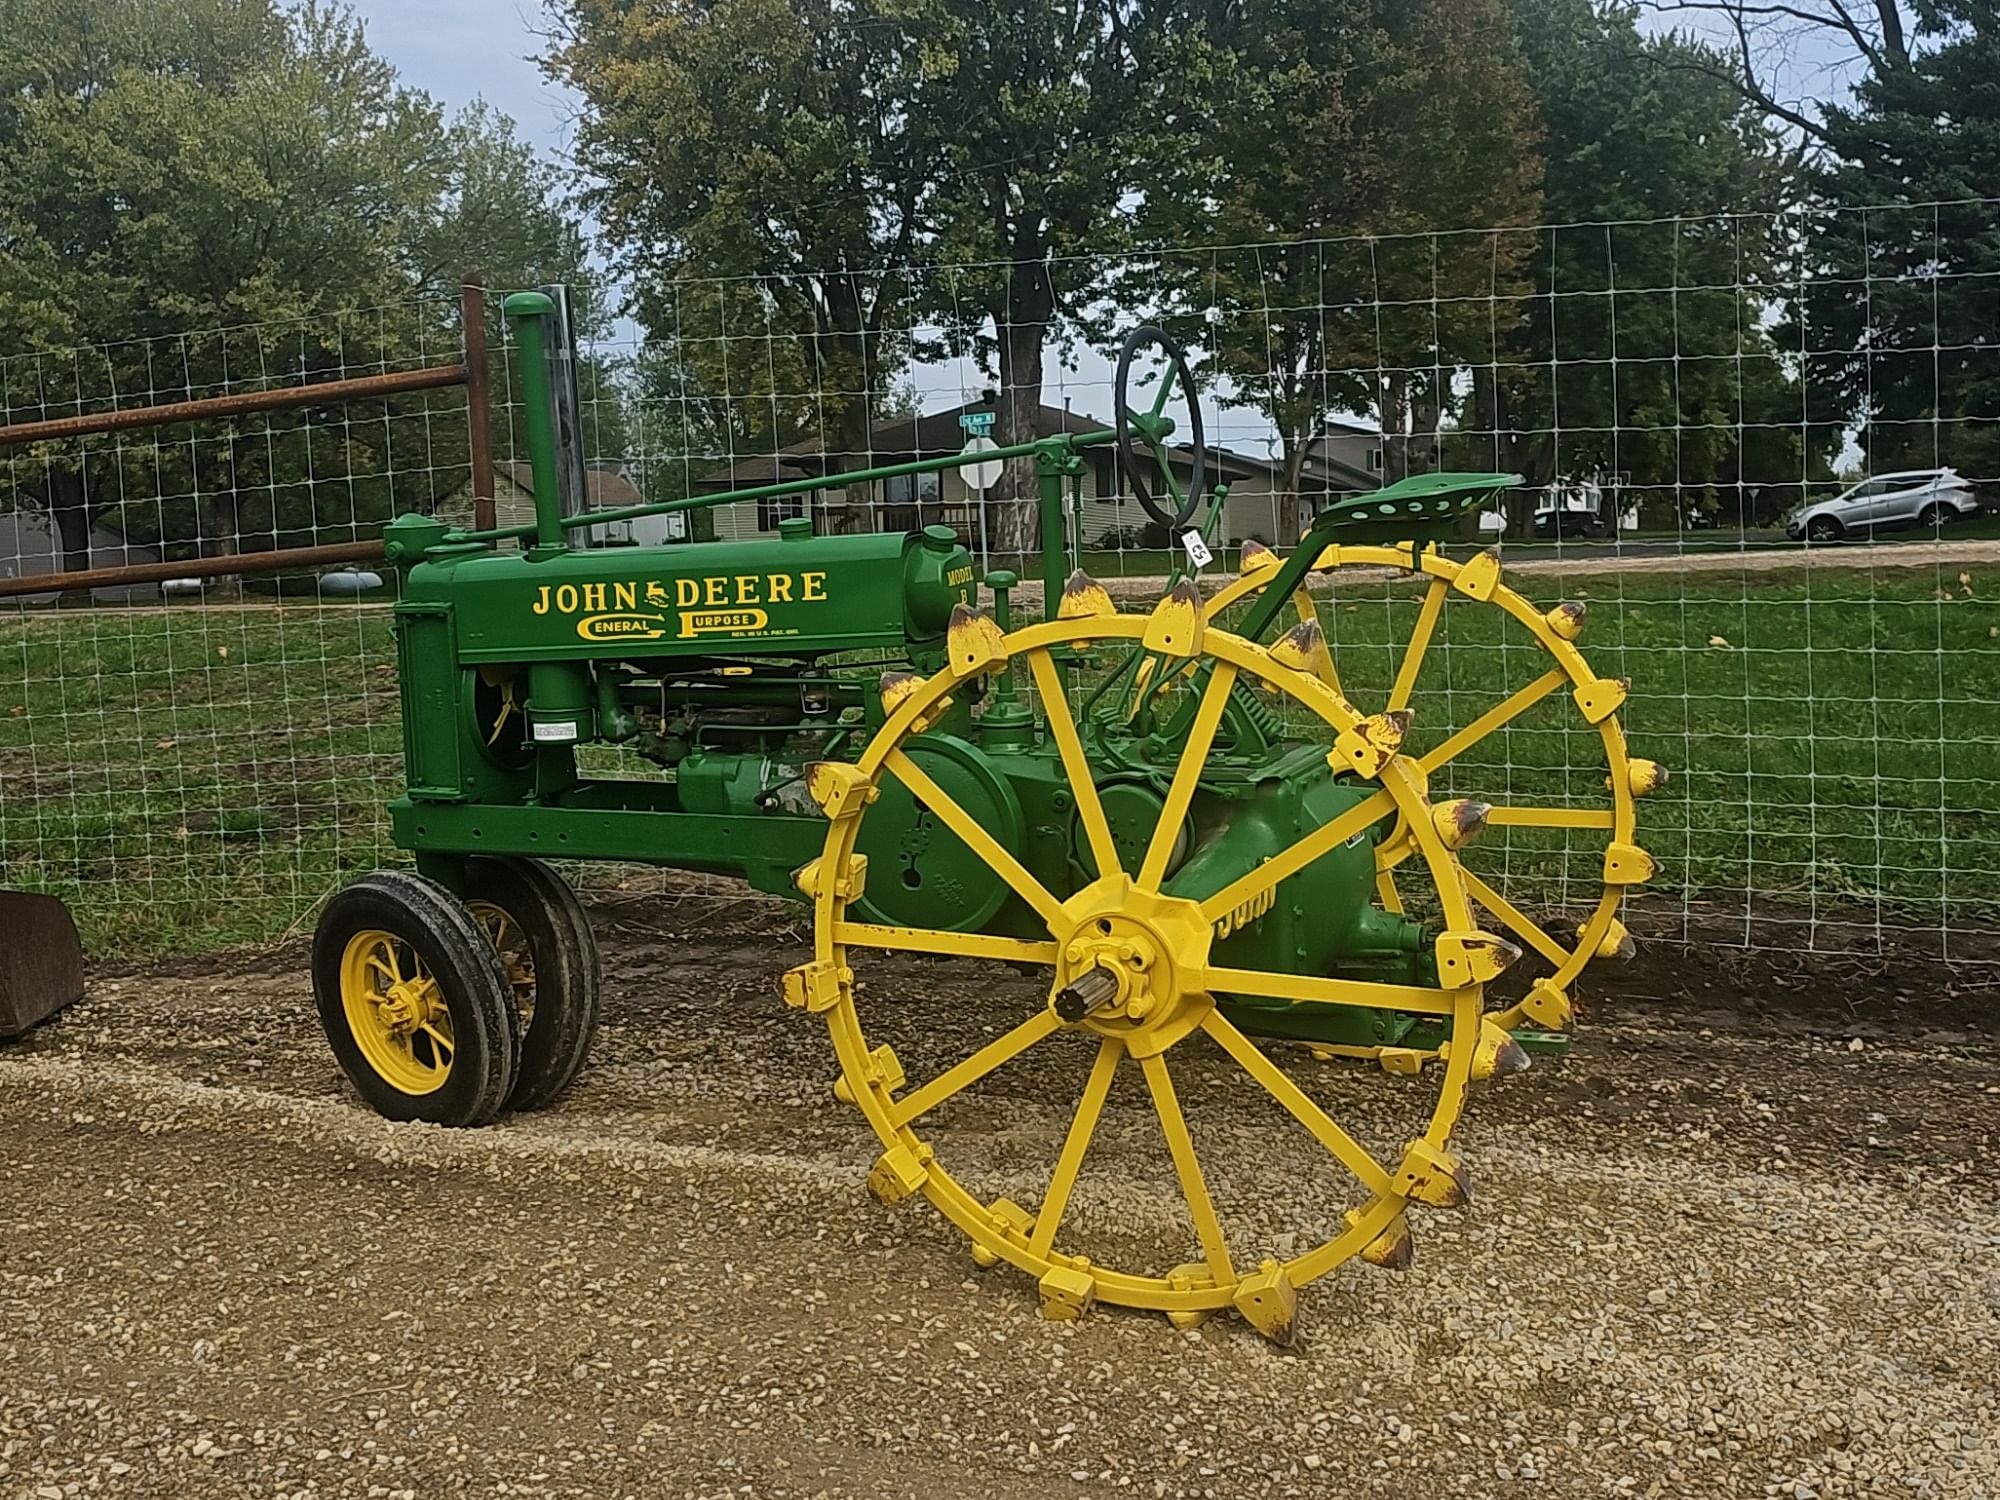
<svg viewBox="0 0 2000 1500"><path fill-rule="evenodd" d="M1208 1008L1210 924L1192 900L1136 890L1116 874L1064 902L1048 1002L1070 1026L1164 1052Z"/></svg>

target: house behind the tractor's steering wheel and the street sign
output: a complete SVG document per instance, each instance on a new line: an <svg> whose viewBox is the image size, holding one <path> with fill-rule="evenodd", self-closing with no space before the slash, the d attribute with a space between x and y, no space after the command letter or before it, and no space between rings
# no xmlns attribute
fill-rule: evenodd
<svg viewBox="0 0 2000 1500"><path fill-rule="evenodd" d="M968 402L944 412L922 416L898 416L878 422L868 432L868 452L856 454L844 468L886 468L924 458L946 458L966 446L962 416L990 414L992 402ZM1064 432L1086 434L1108 428L1084 412L1070 408L1042 406L1036 414L1036 436L1052 438ZM1362 430L1356 430L1356 448ZM1350 464L1342 454L1306 454L1300 470L1300 518L1310 518L1314 510L1330 498L1358 494L1380 484L1364 468ZM1162 546L1158 534L1144 536L1152 518L1132 496L1130 486L1120 482L1118 462L1112 444L1082 450L1082 526L1080 544L1086 548L1120 546ZM1192 450L1176 446L1170 450L1174 480L1186 486L1192 478ZM1376 438L1376 464L1380 466L1380 438ZM830 472L828 456L818 436L806 436L772 454L738 458L710 470L694 484L696 494L726 494L730 490L752 490L788 480L802 480ZM1208 448L1206 484L1226 482L1230 496L1224 510L1224 524L1218 528L1220 540L1228 544L1246 538L1288 544L1296 538L1278 536L1278 490L1284 484L1284 466L1270 456L1254 456L1232 448ZM992 516L982 514L980 498L966 488L958 470L938 474L904 474L886 480L872 480L864 486L840 486L822 490L816 496L778 496L766 500L736 500L716 506L714 534L718 538L770 536L778 522L788 516L814 516L814 530L882 530L900 532L920 526L950 526L974 550L980 550L984 536L992 534ZM858 512L858 514L856 514ZM1158 532L1158 528L1154 528Z"/></svg>

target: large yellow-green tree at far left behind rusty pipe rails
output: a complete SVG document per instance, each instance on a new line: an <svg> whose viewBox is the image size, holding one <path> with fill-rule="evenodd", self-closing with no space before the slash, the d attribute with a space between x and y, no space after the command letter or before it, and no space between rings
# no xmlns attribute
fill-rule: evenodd
<svg viewBox="0 0 2000 1500"><path fill-rule="evenodd" d="M8 362L16 420L52 400L172 400L422 358L448 338L442 294L474 252L504 280L564 276L582 256L510 122L484 108L448 122L344 8L16 0L10 22L0 318L44 346L88 344L62 366L68 390L50 388L48 360ZM186 334L214 328L226 332ZM384 402L382 432L412 410ZM246 506L272 536L310 530L322 506L350 524L382 518L434 500L462 462L458 444L420 470L396 464L374 414L332 420L256 418L150 454L44 448L40 502L64 568L86 566L98 514L148 488L200 496L156 506L164 540L228 552L252 524Z"/></svg>

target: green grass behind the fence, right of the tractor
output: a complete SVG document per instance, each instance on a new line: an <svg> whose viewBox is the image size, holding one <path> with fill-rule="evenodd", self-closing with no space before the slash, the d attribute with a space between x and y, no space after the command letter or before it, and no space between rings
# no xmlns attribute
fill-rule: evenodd
<svg viewBox="0 0 2000 1500"><path fill-rule="evenodd" d="M2000 570L1610 574L1536 580L1590 602L1578 642L1630 678L1634 756L1672 780L1640 804L1656 888L1812 902L1834 920L1938 924L2000 912ZM1940 588L1940 582L1950 588ZM1342 684L1380 702L1420 590L1322 602ZM1546 658L1492 608L1454 600L1426 658L1422 750L1530 682ZM1434 796L1602 804L1602 748L1558 694L1468 750ZM1496 828L1470 862L1542 898L1588 884L1602 838ZM1836 912L1838 908L1838 912Z"/></svg>

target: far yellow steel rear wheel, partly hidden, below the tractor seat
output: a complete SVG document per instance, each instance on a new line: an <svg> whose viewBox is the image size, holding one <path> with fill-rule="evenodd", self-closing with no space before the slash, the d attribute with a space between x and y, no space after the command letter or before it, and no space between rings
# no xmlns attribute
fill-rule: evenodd
<svg viewBox="0 0 2000 1500"><path fill-rule="evenodd" d="M1246 546L1242 572L1206 600L1204 616L1208 620L1222 618L1232 604L1260 594L1278 576L1278 556L1268 548ZM1626 684L1600 678L1576 648L1574 642L1584 630L1586 616L1582 602L1564 602L1550 610L1532 604L1504 582L1496 550L1482 552L1470 562L1454 562L1436 548L1418 548L1408 542L1330 546L1314 562L1314 572L1332 578L1336 598L1340 574L1362 568L1392 568L1426 580L1410 634L1402 640L1388 694L1380 700L1358 698L1364 708L1396 712L1420 706L1418 686L1424 664L1448 608L1502 610L1538 648L1540 674L1522 674L1518 682L1492 682L1484 690L1490 704L1484 712L1414 756L1426 786L1434 788L1436 782L1452 778L1454 768L1478 766L1476 758L1468 756L1480 744L1502 734L1544 702L1560 704L1566 700L1564 722L1570 728L1594 732L1598 740L1600 754L1592 764L1564 768L1560 800L1436 798L1438 806L1446 808L1442 832L1454 846L1468 846L1490 828L1542 830L1544 834L1560 832L1566 840L1566 864L1574 866L1578 858L1588 860L1592 874L1584 878L1586 890L1580 900L1566 902L1574 916L1568 924L1558 926L1546 914L1532 910L1530 902L1514 902L1504 892L1502 886L1508 884L1506 838L1484 840L1460 856L1466 890L1474 904L1534 952L1546 968L1546 974L1536 978L1524 998L1496 1012L1492 1020L1506 1030L1522 1026L1564 1030L1570 1020L1572 986L1590 960L1626 958L1632 952L1632 938L1624 922L1618 920L1618 910L1626 890L1654 874L1652 858L1636 844L1636 800L1664 786L1666 770L1658 762L1636 760L1630 754L1618 712ZM1300 588L1292 606L1304 628L1300 634L1318 640L1314 652L1318 674L1334 692L1342 692L1334 632L1322 630L1318 604L1306 588ZM1514 658L1512 652L1486 652L1482 660L1494 656ZM1478 766L1478 770L1488 774L1496 768ZM1484 784L1492 786L1494 780L1506 778L1512 770L1512 766L1498 768L1498 776L1488 776ZM1588 854L1582 854L1578 844ZM1398 826L1396 834L1380 846L1378 890L1384 906L1402 908L1396 870L1416 852L1418 846L1406 826ZM1386 1062L1400 1066L1408 1064L1410 1058L1392 1054Z"/></svg>

